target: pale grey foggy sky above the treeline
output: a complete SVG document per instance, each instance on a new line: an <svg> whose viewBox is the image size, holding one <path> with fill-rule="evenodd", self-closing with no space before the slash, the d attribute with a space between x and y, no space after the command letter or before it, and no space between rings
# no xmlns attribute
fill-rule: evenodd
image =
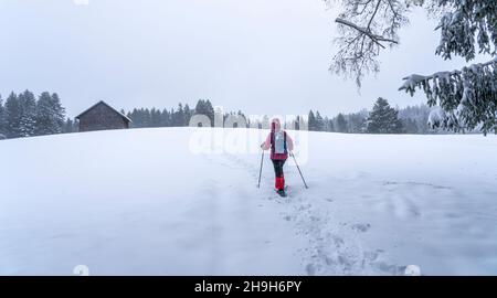
<svg viewBox="0 0 497 298"><path fill-rule="evenodd" d="M85 0L77 0L85 2ZM424 102L398 92L412 73L461 68L435 56L435 22L414 13L401 45L360 93L328 71L334 19L322 0L1 0L0 94L57 92L67 116L97 100L126 110L211 99L246 114L335 116Z"/></svg>

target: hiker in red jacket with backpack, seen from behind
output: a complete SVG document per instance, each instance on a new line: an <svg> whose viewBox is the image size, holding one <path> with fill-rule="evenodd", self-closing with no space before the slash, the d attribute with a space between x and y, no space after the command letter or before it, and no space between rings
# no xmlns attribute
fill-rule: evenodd
<svg viewBox="0 0 497 298"><path fill-rule="evenodd" d="M261 145L263 150L271 148L271 160L273 161L275 172L275 188L279 195L285 196L285 175L283 174L283 166L288 158L288 150L294 150L294 141L282 129L278 118L274 118L271 123L271 132L266 141Z"/></svg>

